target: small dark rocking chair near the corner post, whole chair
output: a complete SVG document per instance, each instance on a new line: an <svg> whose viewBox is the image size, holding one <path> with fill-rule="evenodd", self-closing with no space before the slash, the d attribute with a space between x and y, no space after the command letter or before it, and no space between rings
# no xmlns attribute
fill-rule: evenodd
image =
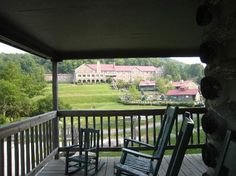
<svg viewBox="0 0 236 176"><path fill-rule="evenodd" d="M79 144L65 147L66 161L65 174L73 174L84 169L87 176L90 170L94 170L95 175L104 163L99 166L99 130L91 128L81 128L79 134ZM74 154L75 151L79 154ZM71 155L72 153L72 155Z"/></svg>

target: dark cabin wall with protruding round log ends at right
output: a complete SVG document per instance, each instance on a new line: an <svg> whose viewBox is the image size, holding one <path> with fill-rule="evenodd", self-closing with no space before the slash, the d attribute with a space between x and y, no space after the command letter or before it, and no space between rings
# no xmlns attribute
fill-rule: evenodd
<svg viewBox="0 0 236 176"><path fill-rule="evenodd" d="M209 166L205 175L213 176L226 131L236 130L236 1L205 0L198 8L196 19L204 29L200 58L207 64L201 80L208 110L202 117L207 135L202 156ZM236 146L229 152L236 156ZM230 162L236 162L236 157ZM223 175L228 175L227 172L236 175L235 169L224 169Z"/></svg>

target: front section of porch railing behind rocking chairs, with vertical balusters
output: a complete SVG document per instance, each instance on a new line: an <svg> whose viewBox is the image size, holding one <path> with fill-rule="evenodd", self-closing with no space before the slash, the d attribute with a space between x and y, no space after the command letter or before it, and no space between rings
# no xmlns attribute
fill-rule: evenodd
<svg viewBox="0 0 236 176"><path fill-rule="evenodd" d="M188 111L195 122L189 148L199 148L205 143L201 130L200 118L205 108L181 108L175 119L174 128L169 138L168 148L173 148L180 129L183 114ZM164 118L164 109L155 110L117 110L117 111L58 111L60 147L78 143L80 128L100 130L102 151L120 150L124 138L131 138L155 144ZM139 148L139 146L134 146ZM145 148L144 148L145 149Z"/></svg>

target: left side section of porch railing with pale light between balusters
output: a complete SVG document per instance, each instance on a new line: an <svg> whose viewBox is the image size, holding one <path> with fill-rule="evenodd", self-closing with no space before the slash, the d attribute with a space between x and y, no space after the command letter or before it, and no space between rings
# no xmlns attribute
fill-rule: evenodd
<svg viewBox="0 0 236 176"><path fill-rule="evenodd" d="M35 175L55 154L54 120L49 112L0 127L0 175Z"/></svg>

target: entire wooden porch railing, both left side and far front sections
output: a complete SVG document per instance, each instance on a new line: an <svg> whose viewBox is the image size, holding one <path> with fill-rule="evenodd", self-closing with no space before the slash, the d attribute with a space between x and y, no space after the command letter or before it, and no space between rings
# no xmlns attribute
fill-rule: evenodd
<svg viewBox="0 0 236 176"><path fill-rule="evenodd" d="M103 151L120 150L126 137L154 144L164 111L52 111L0 127L0 175L35 175L63 146L78 142L80 128L99 129ZM206 110L183 108L179 109L168 148L175 145L185 111L189 111L195 121L189 148L201 147L205 142L200 118Z"/></svg>

